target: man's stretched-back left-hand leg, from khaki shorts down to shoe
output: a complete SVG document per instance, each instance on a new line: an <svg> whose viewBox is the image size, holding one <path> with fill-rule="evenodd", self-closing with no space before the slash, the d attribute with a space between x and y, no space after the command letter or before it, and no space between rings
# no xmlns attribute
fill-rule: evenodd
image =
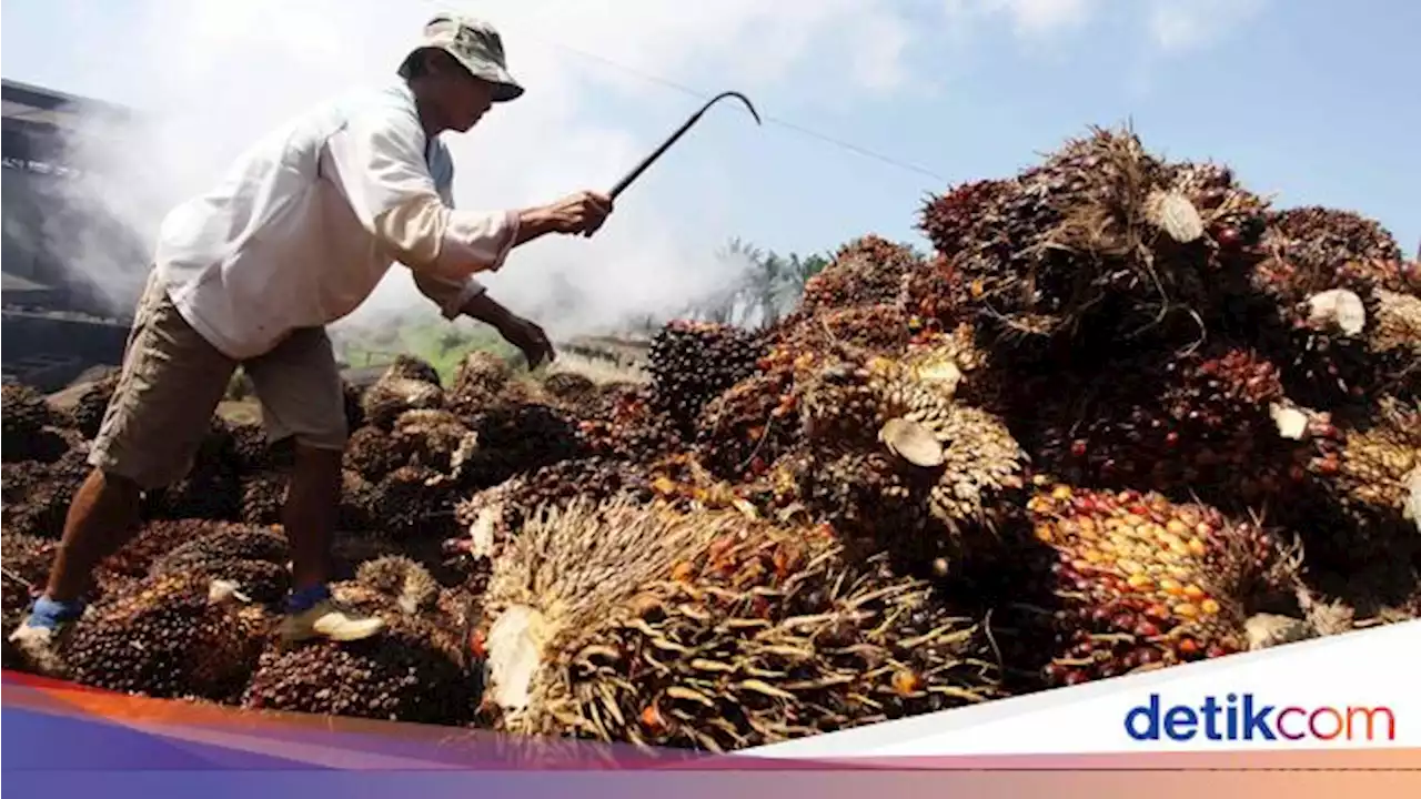
<svg viewBox="0 0 1421 799"><path fill-rule="evenodd" d="M45 593L13 641L47 644L82 613L94 567L136 527L142 492L166 486L190 468L233 368L151 277L90 452L94 471L70 503Z"/></svg>

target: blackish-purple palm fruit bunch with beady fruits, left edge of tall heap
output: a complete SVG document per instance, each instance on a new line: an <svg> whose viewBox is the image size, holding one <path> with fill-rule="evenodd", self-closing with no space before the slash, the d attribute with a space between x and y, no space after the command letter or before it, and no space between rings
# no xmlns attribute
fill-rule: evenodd
<svg viewBox="0 0 1421 799"><path fill-rule="evenodd" d="M689 438L701 408L750 377L762 354L760 343L745 330L686 320L668 323L647 354L652 405Z"/></svg>

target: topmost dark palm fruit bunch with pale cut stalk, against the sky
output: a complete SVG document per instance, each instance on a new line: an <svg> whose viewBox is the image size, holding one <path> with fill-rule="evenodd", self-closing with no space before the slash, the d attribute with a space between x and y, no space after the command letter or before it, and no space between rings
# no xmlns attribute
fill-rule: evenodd
<svg viewBox="0 0 1421 799"><path fill-rule="evenodd" d="M1205 230L1223 210L1174 172L1134 134L1096 129L1013 181L929 200L921 226L1003 343L1150 328L1209 307L1218 266Z"/></svg>

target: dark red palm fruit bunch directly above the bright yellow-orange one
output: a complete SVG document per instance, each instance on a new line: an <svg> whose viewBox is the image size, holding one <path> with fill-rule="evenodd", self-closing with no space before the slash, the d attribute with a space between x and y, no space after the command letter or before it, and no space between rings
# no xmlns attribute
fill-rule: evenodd
<svg viewBox="0 0 1421 799"><path fill-rule="evenodd" d="M1052 382L1022 425L1039 469L1077 485L1216 502L1260 500L1299 481L1309 452L1279 435L1280 371L1259 353L1231 343L1182 357L1145 353L1108 374Z"/></svg>

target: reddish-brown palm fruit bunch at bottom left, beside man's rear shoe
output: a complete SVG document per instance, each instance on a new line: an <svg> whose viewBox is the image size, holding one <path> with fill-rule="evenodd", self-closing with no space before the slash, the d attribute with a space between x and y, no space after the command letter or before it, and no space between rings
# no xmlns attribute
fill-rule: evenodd
<svg viewBox="0 0 1421 799"><path fill-rule="evenodd" d="M206 576L173 573L95 604L63 641L60 657L84 685L230 701L252 674L259 644L240 603L215 591Z"/></svg>

